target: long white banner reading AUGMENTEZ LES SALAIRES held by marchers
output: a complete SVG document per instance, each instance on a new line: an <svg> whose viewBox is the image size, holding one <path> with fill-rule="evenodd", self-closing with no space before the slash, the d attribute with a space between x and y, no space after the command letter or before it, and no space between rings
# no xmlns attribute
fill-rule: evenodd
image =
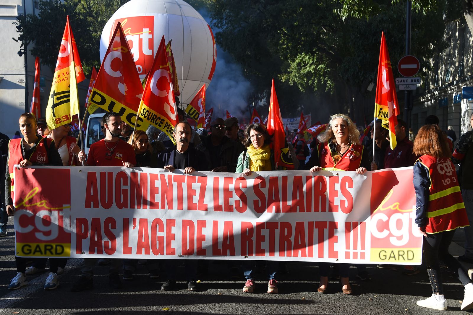
<svg viewBox="0 0 473 315"><path fill-rule="evenodd" d="M421 263L412 167L215 174L15 168L17 255Z"/></svg>

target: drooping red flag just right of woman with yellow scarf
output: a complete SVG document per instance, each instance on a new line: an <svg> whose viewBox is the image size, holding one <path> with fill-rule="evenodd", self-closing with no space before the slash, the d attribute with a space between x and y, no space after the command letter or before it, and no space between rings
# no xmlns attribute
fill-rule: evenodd
<svg viewBox="0 0 473 315"><path fill-rule="evenodd" d="M284 125L282 123L278 97L274 89L274 79L272 79L267 128L269 134L273 136L272 149L274 151L274 165L276 166L276 170L294 169L294 164L289 155L286 135L284 134Z"/></svg>

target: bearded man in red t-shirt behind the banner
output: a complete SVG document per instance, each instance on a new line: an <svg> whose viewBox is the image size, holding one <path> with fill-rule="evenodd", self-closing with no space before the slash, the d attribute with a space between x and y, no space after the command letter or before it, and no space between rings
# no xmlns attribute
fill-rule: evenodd
<svg viewBox="0 0 473 315"><path fill-rule="evenodd" d="M119 137L122 132L122 118L114 112L107 113L103 118L105 126L105 139L97 141L90 146L87 157L87 166L125 166L134 167L136 156L130 144ZM79 158L82 162L83 158ZM94 287L92 275L97 258L85 258L82 266L82 276L72 286L71 291L78 292ZM121 259L110 260L110 286L114 289L122 288L118 273L122 269Z"/></svg>

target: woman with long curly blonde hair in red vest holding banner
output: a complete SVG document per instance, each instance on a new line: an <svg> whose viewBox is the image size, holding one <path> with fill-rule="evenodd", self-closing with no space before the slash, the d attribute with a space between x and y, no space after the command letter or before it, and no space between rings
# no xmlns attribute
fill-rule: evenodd
<svg viewBox="0 0 473 315"><path fill-rule="evenodd" d="M319 172L322 169L355 171L363 174L370 167L369 157L359 142L359 131L350 117L345 114L330 116L326 131L320 137L320 143L312 152L306 169ZM328 285L330 263L320 263L320 284L317 289L325 293ZM340 282L343 294L351 294L348 278L350 265L339 263Z"/></svg>

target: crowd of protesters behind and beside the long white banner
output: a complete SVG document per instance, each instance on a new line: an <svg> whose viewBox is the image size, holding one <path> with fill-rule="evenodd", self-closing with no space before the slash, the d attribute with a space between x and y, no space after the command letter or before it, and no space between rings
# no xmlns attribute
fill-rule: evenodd
<svg viewBox="0 0 473 315"><path fill-rule="evenodd" d="M235 117L224 120L215 118L210 123L210 133L206 130L193 131L185 120L184 111L178 111L179 122L175 125L173 136L175 143L164 133L150 126L144 131L133 131L122 121L117 113L103 116L102 132L105 139L90 146L88 156L70 137L70 125L63 125L54 130L47 129L44 121L36 122L30 113L19 118L19 128L23 137L9 140L0 133L0 167L5 175L4 206L0 216L0 236L6 236L7 215L13 215L12 203L14 186L13 166L37 165L64 166L124 166L156 167L170 172L184 170L184 174L194 171L236 172L248 176L252 172L275 170L274 151L271 149L272 136L266 126L252 123L243 131L238 127ZM354 171L364 174L368 170L413 166L413 183L416 194L416 219L420 233L424 237L423 259L427 266L432 295L417 302L419 306L438 310L447 309L440 276L440 261L455 272L464 285L462 310L473 308L473 284L460 263L448 253L456 228L464 228L466 243L464 255L458 260L473 263L473 131L464 133L455 146L455 131L448 127L447 132L438 127L438 118L430 115L417 135L412 129L407 130L403 120L395 126L397 145L390 148L388 132L381 122L375 122L370 136L360 139L360 131L345 114L330 117L326 131L318 139L307 143L302 133L297 130L287 134L290 156L295 169L310 170L317 173L325 168ZM473 115L469 127L473 128ZM374 132L373 132L374 131ZM242 139L243 138L243 139ZM413 142L412 142L413 140ZM309 146L312 152L309 157ZM374 153L373 153L374 150ZM453 155L452 155L453 152ZM121 159L114 158L120 155ZM455 172L458 164L458 176ZM442 165L442 173L438 171ZM445 180L445 179L450 180ZM445 184L448 183L448 184ZM461 186L461 188L460 188ZM27 265L31 260L32 263ZM15 257L17 275L10 281L9 289L19 289L27 284L26 275L44 271L47 258L27 259ZM140 260L141 261L141 260ZM138 259L109 259L109 283L112 288L122 288L123 280L133 279L133 271ZM151 278L159 277L159 260L145 262ZM49 258L49 276L44 289L56 289L59 286L58 274L63 272L67 259ZM93 270L97 259L84 259L82 274L74 283L72 291L93 288ZM185 277L187 289L198 290L198 260L187 260ZM165 281L162 290L175 289L177 275L176 263L166 260L163 264ZM269 275L268 293L278 293L276 274L278 262L265 262ZM336 263L334 269L340 276L342 293L352 294L349 281L349 264ZM320 263L320 283L317 291L326 293L330 272L330 263ZM366 266L357 265L358 275L362 280L369 280ZM378 265L382 268L383 265ZM255 266L244 264L242 277L246 278L243 292L254 291ZM418 273L413 266L404 266L407 275Z"/></svg>

